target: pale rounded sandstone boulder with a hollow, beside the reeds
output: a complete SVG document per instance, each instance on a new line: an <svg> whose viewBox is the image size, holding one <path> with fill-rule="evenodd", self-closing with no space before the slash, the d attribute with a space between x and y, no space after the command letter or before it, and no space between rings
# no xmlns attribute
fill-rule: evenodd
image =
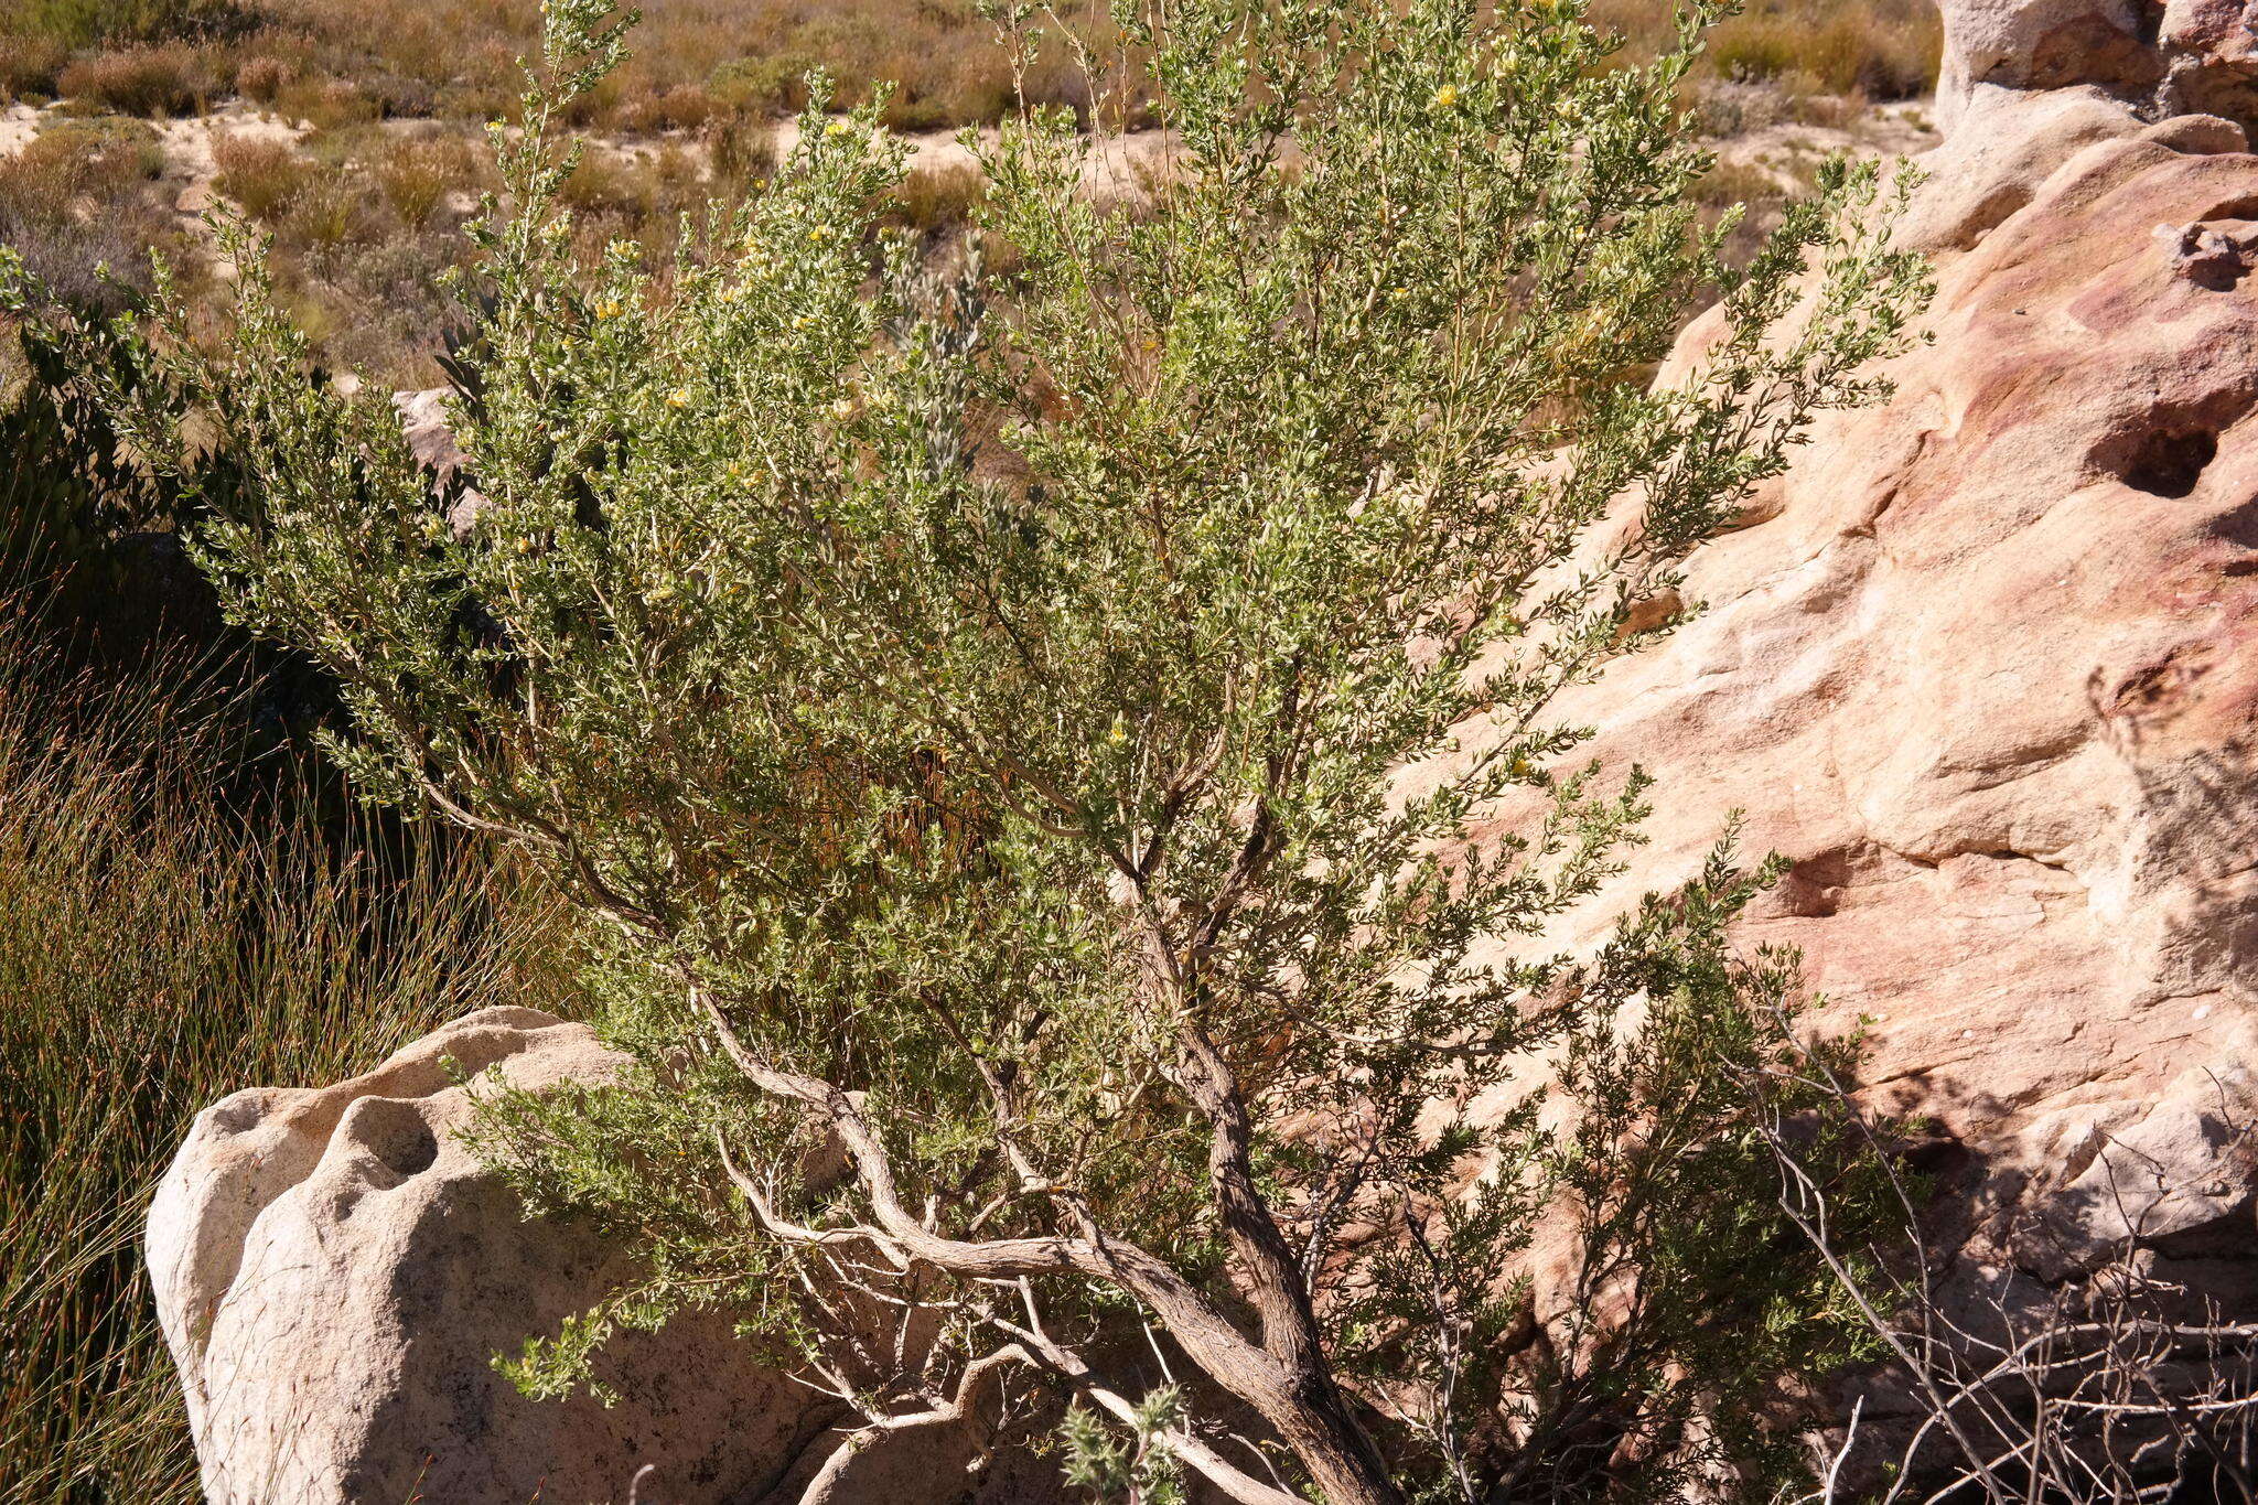
<svg viewBox="0 0 2258 1505"><path fill-rule="evenodd" d="M499 1065L542 1088L614 1063L580 1024L481 1009L366 1076L237 1092L196 1117L147 1250L215 1505L799 1496L840 1451L842 1408L747 1363L727 1322L616 1340L612 1408L528 1401L488 1363L619 1270L594 1230L522 1218L452 1133L472 1110L456 1076ZM833 1464L835 1498L969 1498L980 1440L924 1428L856 1451ZM1012 1460L994 1473L980 1498L1009 1494Z"/></svg>

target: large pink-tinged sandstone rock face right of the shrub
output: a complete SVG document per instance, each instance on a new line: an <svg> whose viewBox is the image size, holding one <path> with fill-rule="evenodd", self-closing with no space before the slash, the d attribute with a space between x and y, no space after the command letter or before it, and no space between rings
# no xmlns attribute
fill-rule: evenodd
<svg viewBox="0 0 2258 1505"><path fill-rule="evenodd" d="M2134 1232L2247 1257L2258 156L2075 95L1994 120L2025 129L1980 144L1998 181L1924 190L1935 343L1894 399L1829 415L1694 557L1707 611L1563 704L1660 806L1565 939L1745 810L1793 871L1743 939L1800 948L1824 1022L1874 1020L1874 1094L1967 1146L1969 1268L2050 1282Z"/></svg>

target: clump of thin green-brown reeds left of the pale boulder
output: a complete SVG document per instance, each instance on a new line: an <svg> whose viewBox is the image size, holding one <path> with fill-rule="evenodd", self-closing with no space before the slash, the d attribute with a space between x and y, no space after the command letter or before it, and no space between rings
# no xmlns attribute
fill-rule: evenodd
<svg viewBox="0 0 2258 1505"><path fill-rule="evenodd" d="M0 1500L187 1503L140 1230L192 1115L542 993L546 921L463 844L246 796L215 668L41 643L0 616Z"/></svg>

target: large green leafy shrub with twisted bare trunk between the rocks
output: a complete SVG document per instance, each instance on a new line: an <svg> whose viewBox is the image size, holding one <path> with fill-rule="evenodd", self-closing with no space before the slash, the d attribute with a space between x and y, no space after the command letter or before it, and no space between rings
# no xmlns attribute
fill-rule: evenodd
<svg viewBox="0 0 2258 1505"><path fill-rule="evenodd" d="M1770 1478L1768 1397L1845 1349L1759 1119L1858 1158L1786 1070L1786 966L1721 939L1761 873L1542 941L1646 810L1549 706L1924 291L1847 165L1723 266L1678 108L1709 18L1624 65L1578 0L1127 5L1163 171L1100 201L1104 135L1009 120L955 262L881 228L883 102L813 79L653 280L571 257L553 126L623 23L551 0L452 512L230 232L233 350L165 388L255 496L201 557L343 684L370 799L580 900L639 1060L488 1117L644 1255L528 1390L709 1304L874 1424L1025 1365L1091 1482ZM1628 379L1703 289L1703 370ZM122 422L163 456L169 417Z"/></svg>

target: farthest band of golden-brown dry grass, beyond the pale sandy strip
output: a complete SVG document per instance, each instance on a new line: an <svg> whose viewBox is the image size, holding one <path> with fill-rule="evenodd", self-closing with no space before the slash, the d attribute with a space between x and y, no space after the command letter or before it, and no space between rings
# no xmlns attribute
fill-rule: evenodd
<svg viewBox="0 0 2258 1505"><path fill-rule="evenodd" d="M0 20L0 90L61 90L126 113L178 113L230 88L316 126L377 117L488 120L517 90L533 47L531 0L20 0ZM887 90L887 124L937 131L1014 106L978 0L648 0L634 56L578 106L578 124L634 133L709 129L806 102L824 68L840 104ZM1106 7L1073 0L1066 25L1104 45ZM1596 0L1592 18L1633 52L1669 36L1662 0ZM9 36L14 34L14 36ZM1707 77L1797 95L1901 99L1935 79L1928 0L1752 0L1718 27ZM18 41L20 38L20 41ZM1027 97L1088 106L1054 45Z"/></svg>

